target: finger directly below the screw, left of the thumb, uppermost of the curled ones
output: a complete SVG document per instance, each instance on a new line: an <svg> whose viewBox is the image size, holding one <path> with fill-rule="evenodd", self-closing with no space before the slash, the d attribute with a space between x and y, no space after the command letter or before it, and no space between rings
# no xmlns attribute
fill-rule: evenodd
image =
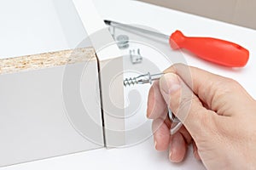
<svg viewBox="0 0 256 170"><path fill-rule="evenodd" d="M167 105L160 93L159 81L155 81L148 93L148 109L147 117L156 119L160 116L165 119L167 113Z"/></svg>

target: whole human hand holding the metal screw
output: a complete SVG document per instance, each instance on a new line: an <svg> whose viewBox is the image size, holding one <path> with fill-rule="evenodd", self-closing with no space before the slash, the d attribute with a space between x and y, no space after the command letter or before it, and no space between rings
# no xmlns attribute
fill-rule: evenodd
<svg viewBox="0 0 256 170"><path fill-rule="evenodd" d="M241 85L187 65L172 65L148 94L156 150L183 161L189 144L207 169L256 168L256 101ZM183 122L172 136L167 105Z"/></svg>

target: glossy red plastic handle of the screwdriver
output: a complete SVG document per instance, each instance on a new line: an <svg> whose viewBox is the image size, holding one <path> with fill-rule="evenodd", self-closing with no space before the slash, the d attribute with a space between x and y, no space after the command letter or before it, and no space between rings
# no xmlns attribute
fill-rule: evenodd
<svg viewBox="0 0 256 170"><path fill-rule="evenodd" d="M169 41L173 49L185 48L201 59L218 65L242 67L249 59L246 48L212 37L185 37L181 31L175 31Z"/></svg>

